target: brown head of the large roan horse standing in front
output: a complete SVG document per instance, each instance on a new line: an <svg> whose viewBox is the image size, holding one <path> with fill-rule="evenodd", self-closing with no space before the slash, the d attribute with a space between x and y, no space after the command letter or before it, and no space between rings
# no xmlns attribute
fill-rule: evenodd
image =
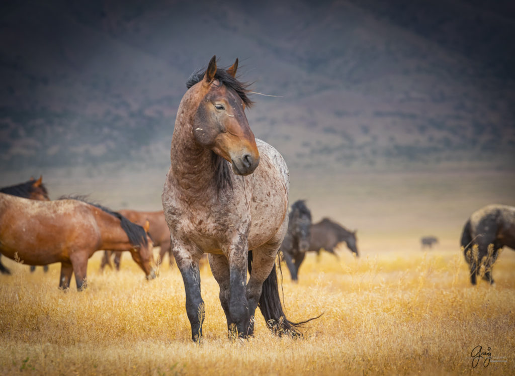
<svg viewBox="0 0 515 376"><path fill-rule="evenodd" d="M232 163L237 175L249 175L259 164L259 151L249 127L245 107L252 102L236 80L238 59L228 70L217 70L216 57L197 83L202 99L194 114L195 140Z"/></svg>

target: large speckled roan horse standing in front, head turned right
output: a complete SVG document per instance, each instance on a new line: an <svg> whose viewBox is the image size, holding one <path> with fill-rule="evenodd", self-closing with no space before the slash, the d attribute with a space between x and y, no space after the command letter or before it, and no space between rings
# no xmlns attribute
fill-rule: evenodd
<svg viewBox="0 0 515 376"><path fill-rule="evenodd" d="M220 286L230 336L253 334L258 305L276 333L298 334L302 323L286 319L276 274L288 228L288 168L276 149L254 139L244 112L252 102L247 86L235 78L237 65L236 59L229 69L217 69L213 56L205 73L188 79L162 195L193 340L202 337L204 252Z"/></svg>

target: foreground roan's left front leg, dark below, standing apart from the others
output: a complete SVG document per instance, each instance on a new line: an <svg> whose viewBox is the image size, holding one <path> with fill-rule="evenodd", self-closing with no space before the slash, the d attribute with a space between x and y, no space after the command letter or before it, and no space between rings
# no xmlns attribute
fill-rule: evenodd
<svg viewBox="0 0 515 376"><path fill-rule="evenodd" d="M173 242L172 252L184 282L186 314L192 327L192 340L197 341L202 337L202 321L205 315L204 301L200 295L200 252L177 240Z"/></svg>

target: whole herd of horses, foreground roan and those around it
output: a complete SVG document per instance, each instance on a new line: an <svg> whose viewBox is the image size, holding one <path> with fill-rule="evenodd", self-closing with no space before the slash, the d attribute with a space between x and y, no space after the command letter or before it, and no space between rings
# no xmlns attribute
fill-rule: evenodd
<svg viewBox="0 0 515 376"><path fill-rule="evenodd" d="M238 60L206 70L186 83L170 148L162 194L163 211L112 211L81 197L51 201L42 179L0 190L0 253L27 265L61 263L59 287L85 287L88 259L104 250L101 267L129 251L148 279L156 277L152 248L175 260L184 283L191 338L202 337L204 303L199 262L208 254L231 337L254 331L259 307L270 330L299 335L303 323L286 318L276 261L283 259L293 280L308 251L336 256L346 243L356 257L356 232L324 218L312 223L302 200L289 210L289 172L279 151L254 138L245 109L252 105L247 84L236 78ZM491 266L503 246L515 247L515 208L490 206L475 212L461 238L471 282L493 283ZM173 257L172 257L173 255ZM336 256L337 257L337 256ZM0 271L8 272L0 263ZM248 278L248 274L250 277ZM247 280L248 279L248 280Z"/></svg>

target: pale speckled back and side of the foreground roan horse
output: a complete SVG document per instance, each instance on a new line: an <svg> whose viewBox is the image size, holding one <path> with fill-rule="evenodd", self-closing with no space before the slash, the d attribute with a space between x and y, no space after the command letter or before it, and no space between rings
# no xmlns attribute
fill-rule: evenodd
<svg viewBox="0 0 515 376"><path fill-rule="evenodd" d="M281 229L285 233L288 212L289 172L283 157L274 147L256 139L260 163L252 174L251 228L249 247L266 243ZM286 226L284 226L286 221ZM284 233L279 237L284 237Z"/></svg>

